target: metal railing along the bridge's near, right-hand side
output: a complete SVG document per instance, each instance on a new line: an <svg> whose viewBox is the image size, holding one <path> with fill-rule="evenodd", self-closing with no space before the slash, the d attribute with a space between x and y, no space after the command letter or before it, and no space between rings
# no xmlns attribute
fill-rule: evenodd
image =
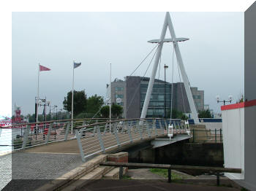
<svg viewBox="0 0 256 191"><path fill-rule="evenodd" d="M109 149L121 147L142 139L153 139L167 135L170 120L159 118L113 120L82 125L76 130L78 147L83 161ZM172 120L174 133L187 133L187 127ZM80 129L79 129L80 128Z"/></svg>

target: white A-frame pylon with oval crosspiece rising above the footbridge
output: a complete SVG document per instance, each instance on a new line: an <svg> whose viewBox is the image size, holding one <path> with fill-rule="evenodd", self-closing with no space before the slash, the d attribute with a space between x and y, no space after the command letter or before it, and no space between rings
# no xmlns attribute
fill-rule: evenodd
<svg viewBox="0 0 256 191"><path fill-rule="evenodd" d="M166 34L166 31L167 31L167 27L169 28L170 36L172 37L172 39L165 39L165 34ZM195 124L199 123L199 120L198 120L198 117L197 117L197 110L195 109L195 103L194 103L194 99L192 97L192 92L191 92L190 85L189 85L189 79L187 78L187 74L186 74L184 64L183 64L183 61L182 61L182 58L181 58L181 52L180 52L179 47L178 47L178 42L185 41L185 40L187 40L187 39L186 38L176 38L174 29L173 29L173 23L170 20L170 14L169 14L169 12L166 12L165 22L164 22L164 25L162 26L162 33L161 33L160 39L149 41L149 42L153 42L153 43L157 42L159 44L159 46L157 48L157 54L156 54L156 58L154 60L153 70L152 70L151 77L150 77L150 80L149 80L149 83L148 83L148 90L147 90L147 93L146 93L146 98L145 98L143 109L142 109L141 116L140 116L141 119L146 117L146 112L148 110L148 104L149 104L149 101L150 101L152 88L153 88L153 85L154 85L154 79L155 79L156 73L157 73L159 58L160 58L161 53L162 53L162 45L163 45L164 42L173 42L173 47L175 49L176 57L177 57L177 60L178 60L178 66L181 70L181 76L182 76L182 79L183 79L183 82L184 82L184 87L185 87L185 90L186 90L186 93L187 93L187 98L189 100L189 106L190 106L190 110L191 110L191 113L192 113L192 119L194 119Z"/></svg>

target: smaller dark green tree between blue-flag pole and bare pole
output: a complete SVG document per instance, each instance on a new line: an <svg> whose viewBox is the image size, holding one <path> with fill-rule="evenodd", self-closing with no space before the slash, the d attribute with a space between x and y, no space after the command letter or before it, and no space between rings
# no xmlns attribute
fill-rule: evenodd
<svg viewBox="0 0 256 191"><path fill-rule="evenodd" d="M87 100L87 110L86 112L89 114L96 114L99 112L99 109L104 104L102 96L97 96L97 94L92 95Z"/></svg>

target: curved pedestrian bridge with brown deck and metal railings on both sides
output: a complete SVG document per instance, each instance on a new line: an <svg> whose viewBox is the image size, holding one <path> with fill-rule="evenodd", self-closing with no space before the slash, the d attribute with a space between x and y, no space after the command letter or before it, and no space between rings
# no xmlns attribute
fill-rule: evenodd
<svg viewBox="0 0 256 191"><path fill-rule="evenodd" d="M84 162L94 155L120 151L143 141L162 147L190 138L188 125L172 120L173 128L168 129L169 123L160 118L78 119L73 120L72 128L71 120L48 121L3 128L0 139L1 145L13 151L79 153ZM166 139L168 133L174 138Z"/></svg>

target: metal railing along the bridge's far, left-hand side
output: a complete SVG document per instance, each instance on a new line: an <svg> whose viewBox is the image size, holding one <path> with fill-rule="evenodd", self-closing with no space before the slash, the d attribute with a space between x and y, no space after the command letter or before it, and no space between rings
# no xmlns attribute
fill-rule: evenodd
<svg viewBox="0 0 256 191"><path fill-rule="evenodd" d="M0 128L0 153L75 139L77 127L108 120L105 118L74 119L72 132L71 120L32 122L2 127Z"/></svg>

